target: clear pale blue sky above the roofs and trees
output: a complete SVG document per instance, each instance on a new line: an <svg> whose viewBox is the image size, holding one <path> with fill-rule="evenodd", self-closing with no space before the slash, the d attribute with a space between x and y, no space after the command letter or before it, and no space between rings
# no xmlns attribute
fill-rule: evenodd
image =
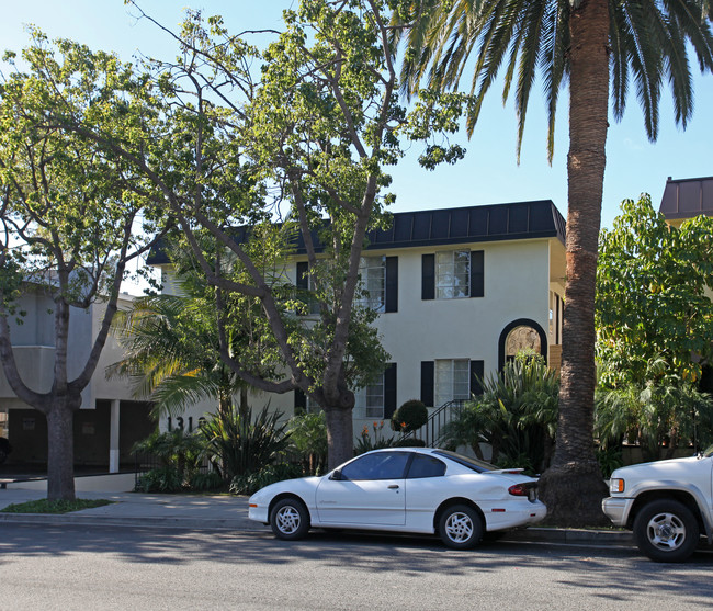
<svg viewBox="0 0 713 611"><path fill-rule="evenodd" d="M281 29L282 11L295 0L142 0L142 9L161 24L176 30L185 7L204 14L220 14L231 32ZM131 60L140 54L171 59L173 41L124 0L0 0L0 49L19 52L29 44L26 24L34 24L50 38L72 38L93 49L115 52ZM253 39L269 41L268 37ZM674 179L713 176L713 76L701 76L692 63L695 110L686 131L676 126L670 93L663 92L659 136L649 143L642 111L633 93L621 123L610 116L607 169L602 203L602 227L611 227L624 199L641 193L652 196L658 208L668 177ZM3 70L7 67L2 68ZM530 99L523 147L516 158L517 123L512 103L505 106L501 88L494 87L482 110L472 138L455 138L465 146L465 158L455 166L434 171L421 169L415 147L392 170L396 193L393 212L552 200L567 213L567 95L561 95L556 123L555 155L546 154L544 95L535 86Z"/></svg>

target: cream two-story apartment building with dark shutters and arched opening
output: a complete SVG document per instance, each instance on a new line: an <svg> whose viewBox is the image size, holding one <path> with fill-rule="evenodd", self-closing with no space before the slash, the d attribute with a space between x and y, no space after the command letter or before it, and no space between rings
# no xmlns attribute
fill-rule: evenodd
<svg viewBox="0 0 713 611"><path fill-rule="evenodd" d="M377 383L358 391L354 432L408 399L431 408L467 399L476 375L497 372L524 348L558 367L564 239L565 220L551 201L395 213L388 229L371 233L362 282L391 362ZM152 264L172 291L168 260ZM307 269L298 245L284 273L307 288ZM299 392L252 395L256 407L268 400L286 416L309 408ZM191 410L192 420L204 409Z"/></svg>

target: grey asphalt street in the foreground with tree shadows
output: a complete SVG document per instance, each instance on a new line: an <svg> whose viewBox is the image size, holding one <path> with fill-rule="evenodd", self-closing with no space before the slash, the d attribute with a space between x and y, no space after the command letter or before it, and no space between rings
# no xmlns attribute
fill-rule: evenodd
<svg viewBox="0 0 713 611"><path fill-rule="evenodd" d="M713 554L659 565L631 546L0 523L0 609L78 611L710 609Z"/></svg>

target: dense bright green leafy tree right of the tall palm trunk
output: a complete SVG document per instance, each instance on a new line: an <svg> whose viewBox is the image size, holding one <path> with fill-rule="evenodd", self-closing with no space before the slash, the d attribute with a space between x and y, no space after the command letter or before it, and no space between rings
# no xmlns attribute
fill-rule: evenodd
<svg viewBox="0 0 713 611"><path fill-rule="evenodd" d="M713 359L713 218L672 227L648 195L602 230L597 355L608 387L697 382Z"/></svg>

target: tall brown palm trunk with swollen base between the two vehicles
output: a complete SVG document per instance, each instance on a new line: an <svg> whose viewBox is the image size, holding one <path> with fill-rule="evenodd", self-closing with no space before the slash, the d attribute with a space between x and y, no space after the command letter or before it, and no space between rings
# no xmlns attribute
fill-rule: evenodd
<svg viewBox="0 0 713 611"><path fill-rule="evenodd" d="M548 522L580 527L608 523L601 511L607 487L592 438L595 286L609 110L608 1L581 2L569 27L569 207L559 418L541 496Z"/></svg>

